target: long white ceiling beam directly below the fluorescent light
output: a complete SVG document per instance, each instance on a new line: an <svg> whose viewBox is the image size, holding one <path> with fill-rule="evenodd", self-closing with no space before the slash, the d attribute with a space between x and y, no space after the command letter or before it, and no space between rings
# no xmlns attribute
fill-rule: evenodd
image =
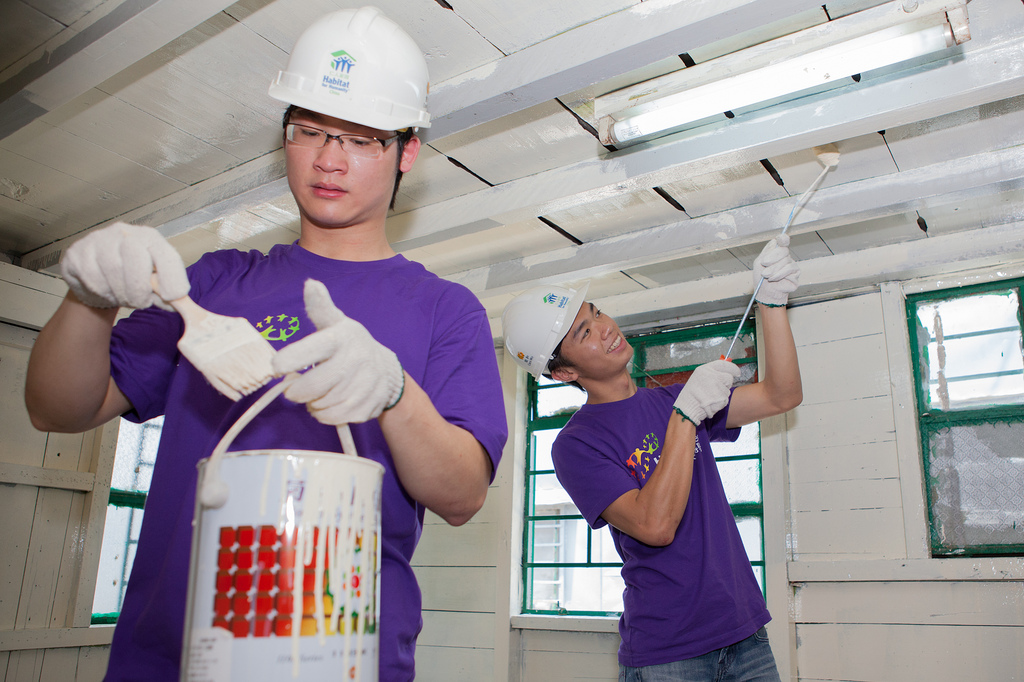
<svg viewBox="0 0 1024 682"><path fill-rule="evenodd" d="M877 80L424 206L388 220L398 251L1024 93L1019 37Z"/></svg>

